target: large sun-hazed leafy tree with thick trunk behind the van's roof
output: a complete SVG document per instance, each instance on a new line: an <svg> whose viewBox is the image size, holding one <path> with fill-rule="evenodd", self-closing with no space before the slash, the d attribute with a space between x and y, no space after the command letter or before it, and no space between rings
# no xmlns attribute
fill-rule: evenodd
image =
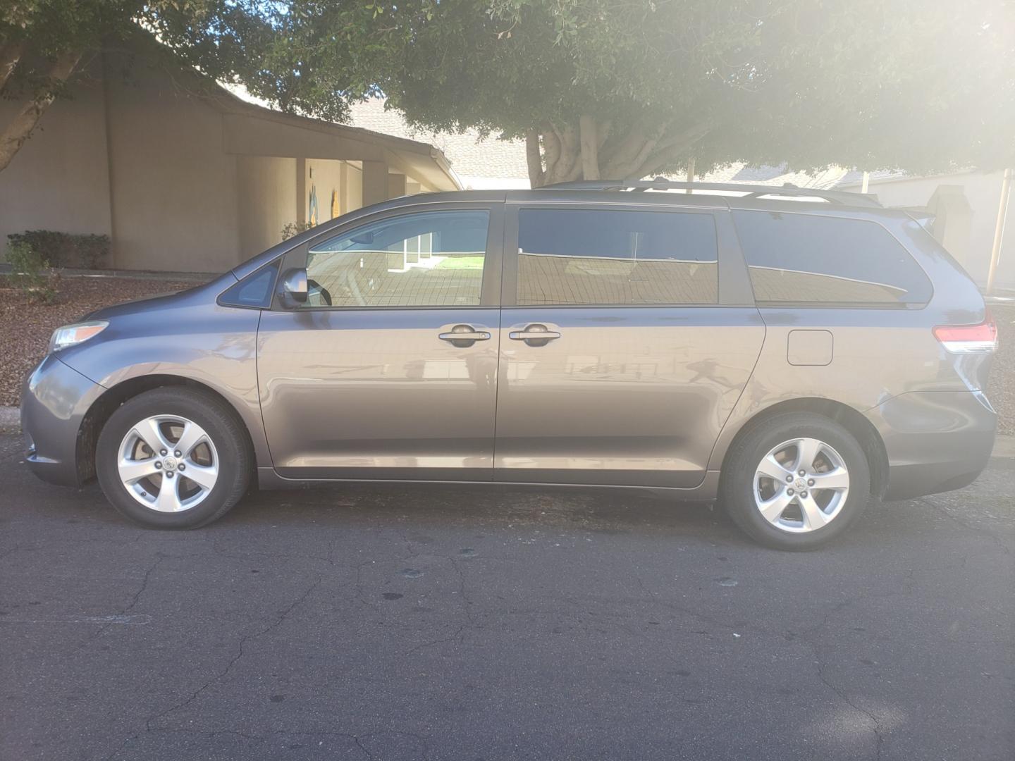
<svg viewBox="0 0 1015 761"><path fill-rule="evenodd" d="M369 1L369 0L367 0ZM240 3L241 5L243 3ZM283 110L383 92L416 125L524 137L534 186L717 163L926 171L1015 159L1010 0L249 0ZM228 23L178 50L244 50Z"/></svg>

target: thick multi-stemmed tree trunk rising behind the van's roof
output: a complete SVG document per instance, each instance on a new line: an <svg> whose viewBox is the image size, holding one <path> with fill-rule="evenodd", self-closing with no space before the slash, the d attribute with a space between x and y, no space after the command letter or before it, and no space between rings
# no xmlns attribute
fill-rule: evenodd
<svg viewBox="0 0 1015 761"><path fill-rule="evenodd" d="M674 131L669 124L634 126L614 134L610 122L583 115L576 123L546 124L526 134L526 159L533 188L576 180L639 180L689 157L712 129L707 120Z"/></svg>

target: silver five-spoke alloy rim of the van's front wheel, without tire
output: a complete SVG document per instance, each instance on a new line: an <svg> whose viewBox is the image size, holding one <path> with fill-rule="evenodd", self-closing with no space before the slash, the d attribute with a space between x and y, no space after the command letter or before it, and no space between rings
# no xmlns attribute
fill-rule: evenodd
<svg viewBox="0 0 1015 761"><path fill-rule="evenodd" d="M120 443L120 481L145 507L181 512L200 504L218 480L218 454L204 428L179 415L153 415Z"/></svg>

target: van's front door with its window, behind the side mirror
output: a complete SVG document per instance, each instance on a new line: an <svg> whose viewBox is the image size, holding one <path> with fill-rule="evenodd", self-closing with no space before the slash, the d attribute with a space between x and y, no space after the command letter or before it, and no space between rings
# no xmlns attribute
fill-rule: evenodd
<svg viewBox="0 0 1015 761"><path fill-rule="evenodd" d="M502 229L501 204L417 206L286 255L311 296L258 332L279 475L492 478Z"/></svg>

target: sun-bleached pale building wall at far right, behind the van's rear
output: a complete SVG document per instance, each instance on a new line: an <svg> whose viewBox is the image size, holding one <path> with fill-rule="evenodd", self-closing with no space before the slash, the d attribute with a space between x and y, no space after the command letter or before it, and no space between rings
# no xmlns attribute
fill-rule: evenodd
<svg viewBox="0 0 1015 761"><path fill-rule="evenodd" d="M870 192L877 194L885 206L926 206L939 185L961 186L972 210L962 264L977 284L985 285L1001 202L1001 171L993 171L892 180L871 183ZM1015 288L1015 200L1009 201L1008 225L995 284L1000 288Z"/></svg>

